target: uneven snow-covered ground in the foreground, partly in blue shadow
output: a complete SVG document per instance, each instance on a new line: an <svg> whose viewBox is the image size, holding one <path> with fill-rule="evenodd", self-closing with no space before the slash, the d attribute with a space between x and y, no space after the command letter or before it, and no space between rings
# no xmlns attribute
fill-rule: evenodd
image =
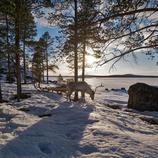
<svg viewBox="0 0 158 158"><path fill-rule="evenodd" d="M16 86L2 88L4 99L12 99ZM99 88L94 101L74 103L23 85L30 98L0 106L0 158L157 158L158 125L141 118L158 113L126 109L128 94L116 88Z"/></svg>

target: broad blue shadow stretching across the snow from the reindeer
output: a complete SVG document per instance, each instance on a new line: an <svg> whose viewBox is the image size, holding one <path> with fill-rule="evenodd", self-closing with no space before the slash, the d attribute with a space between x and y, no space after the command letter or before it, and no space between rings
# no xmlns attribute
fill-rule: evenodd
<svg viewBox="0 0 158 158"><path fill-rule="evenodd" d="M81 146L80 141L93 111L91 105L62 102L45 117L0 147L0 158L71 158L97 149Z"/></svg>

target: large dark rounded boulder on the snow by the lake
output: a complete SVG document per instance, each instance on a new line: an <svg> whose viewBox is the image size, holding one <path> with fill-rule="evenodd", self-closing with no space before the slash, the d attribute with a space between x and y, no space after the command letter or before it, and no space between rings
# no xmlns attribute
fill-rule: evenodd
<svg viewBox="0 0 158 158"><path fill-rule="evenodd" d="M128 108L140 111L158 111L158 88L136 83L128 90Z"/></svg>

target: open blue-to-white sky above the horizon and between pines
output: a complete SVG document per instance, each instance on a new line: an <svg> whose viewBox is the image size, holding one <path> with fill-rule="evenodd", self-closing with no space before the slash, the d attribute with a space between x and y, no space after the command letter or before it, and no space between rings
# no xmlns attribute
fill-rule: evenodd
<svg viewBox="0 0 158 158"><path fill-rule="evenodd" d="M47 21L37 21L37 39L42 36L42 34L46 31L54 37L57 35L58 30L54 27L51 27ZM158 56L157 56L158 57ZM129 56L127 57L126 61L121 60L118 62L114 68L110 69L111 63L108 63L103 66L93 66L92 68L86 69L86 75L115 75L115 74L136 74L136 75L158 75L158 66L156 65L157 57L153 60L148 58L148 56L144 55L143 53L137 53L137 62ZM88 63L94 65L94 59L89 57ZM60 63L58 64L59 70L57 74L62 75L73 75L73 72L70 71L66 64ZM50 72L50 75L54 75Z"/></svg>

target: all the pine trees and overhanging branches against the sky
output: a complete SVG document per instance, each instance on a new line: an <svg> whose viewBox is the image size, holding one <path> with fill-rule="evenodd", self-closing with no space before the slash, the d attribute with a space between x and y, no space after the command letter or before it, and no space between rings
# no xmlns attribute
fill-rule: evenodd
<svg viewBox="0 0 158 158"><path fill-rule="evenodd" d="M78 69L82 69L84 81L88 48L99 58L98 65L109 61L114 65L128 54L136 58L141 50L154 58L158 46L156 0L1 0L0 3L1 63L7 63L6 80L17 81L18 99L21 83L27 83L31 77L28 69L41 82L44 71L48 76L49 69L58 68L56 61L66 58L74 71L74 81L78 81ZM52 38L45 32L37 40L35 17L46 18L52 27L58 28L58 35Z"/></svg>

